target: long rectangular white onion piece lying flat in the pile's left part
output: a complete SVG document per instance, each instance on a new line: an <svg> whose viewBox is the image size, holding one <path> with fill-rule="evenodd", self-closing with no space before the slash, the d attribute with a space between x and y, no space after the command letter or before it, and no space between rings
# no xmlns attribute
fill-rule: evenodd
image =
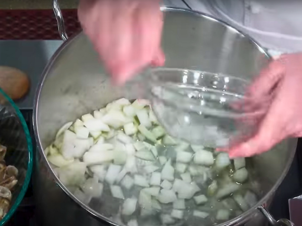
<svg viewBox="0 0 302 226"><path fill-rule="evenodd" d="M112 161L114 159L114 156L114 151L86 152L83 156L83 161L89 166L98 165Z"/></svg>

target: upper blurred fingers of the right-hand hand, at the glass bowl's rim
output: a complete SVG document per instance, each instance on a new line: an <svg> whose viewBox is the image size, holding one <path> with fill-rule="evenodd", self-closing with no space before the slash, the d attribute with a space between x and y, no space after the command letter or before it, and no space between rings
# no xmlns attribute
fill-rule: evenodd
<svg viewBox="0 0 302 226"><path fill-rule="evenodd" d="M253 97L261 97L269 94L284 72L285 67L282 63L282 57L273 60L268 67L260 72L259 76L248 88L247 94Z"/></svg>

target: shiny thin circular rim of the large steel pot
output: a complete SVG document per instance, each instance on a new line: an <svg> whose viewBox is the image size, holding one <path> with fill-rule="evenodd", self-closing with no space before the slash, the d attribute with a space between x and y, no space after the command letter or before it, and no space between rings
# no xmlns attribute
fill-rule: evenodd
<svg viewBox="0 0 302 226"><path fill-rule="evenodd" d="M219 24L222 24L226 27L228 27L229 29L232 29L233 31L235 31L237 34L242 35L243 37L247 38L251 43L253 43L258 50L263 53L267 58L271 59L271 56L267 53L267 51L261 47L260 44L258 44L258 42L256 42L253 38L251 38L249 35L247 35L246 33L238 30L237 28L235 28L234 26L230 25L229 23L226 23L220 19L216 19L210 15L198 12L198 11L194 11L194 10L190 10L190 9L183 9L183 8L177 8L177 7L161 7L161 10L164 12L186 12L186 13L191 13L195 16L198 17L202 17L214 22L217 22ZM111 220L108 217L103 216L102 214L100 214L99 212L97 212L96 210L92 209L91 207L89 207L88 205L82 203L79 199L77 199L59 180L59 178L56 176L56 174L54 173L54 171L52 170L52 168L50 167L50 164L48 163L46 156L44 154L44 151L42 149L42 145L40 142L40 137L39 137L39 131L38 131L38 126L37 126L37 111L38 111L38 104L39 104L39 97L40 97L40 93L44 84L44 81L48 75L48 72L50 71L50 69L52 68L55 60L58 58L58 56L60 55L60 53L68 46L72 43L73 40L79 38L81 35L83 34L83 32L80 32L78 34L73 35L72 37L68 38L67 41L63 42L63 44L55 51L55 53L52 55L52 57L50 58L50 60L48 61L46 67L44 68L43 72L42 72L42 76L40 79L40 82L38 84L38 88L36 90L35 93L35 102L34 102L34 112L33 112L33 127L34 127L34 133L35 133L35 139L37 141L37 146L39 149L39 152L42 156L42 159L44 160L44 162L46 163L46 167L48 168L48 170L50 172L52 172L52 176L55 180L55 182L61 187L61 189L71 198L73 199L76 203L78 203L80 206L82 206L84 209L86 209L90 214L92 214L93 216L100 218L101 220L107 221L109 223L111 223L112 225L116 225L116 226L120 226L119 224L117 224L116 222L114 222L113 220ZM296 147L296 139L293 139L295 141L293 141L292 143L295 142L294 144L294 148ZM295 149L294 149L295 150ZM275 190L279 187L280 183L283 181L285 175L287 174L289 167L291 166L293 157L294 157L295 151L292 151L291 155L289 156L289 159L287 161L287 164L281 174L281 176L279 177L279 179L277 180L277 182L273 185L273 187L267 192L267 194L265 196L263 196L258 202L257 204L250 208L249 210L243 212L241 215L225 221L223 223L217 224L216 226L223 226L223 225L232 225L235 223L238 223L242 220L248 220L249 218L253 217L253 212L257 209L258 206L262 205L263 203L265 203L269 197L275 192Z"/></svg>

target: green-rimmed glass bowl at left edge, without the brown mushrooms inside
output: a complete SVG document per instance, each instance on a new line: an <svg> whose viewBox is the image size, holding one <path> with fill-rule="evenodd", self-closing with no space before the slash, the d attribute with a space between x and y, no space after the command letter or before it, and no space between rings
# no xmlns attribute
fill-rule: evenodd
<svg viewBox="0 0 302 226"><path fill-rule="evenodd" d="M0 225L4 225L14 214L27 191L33 167L33 150L31 136L20 110L2 89L0 89L0 144L7 147L4 158L6 165L13 165L19 171L18 182L12 189L9 211L0 221Z"/></svg>

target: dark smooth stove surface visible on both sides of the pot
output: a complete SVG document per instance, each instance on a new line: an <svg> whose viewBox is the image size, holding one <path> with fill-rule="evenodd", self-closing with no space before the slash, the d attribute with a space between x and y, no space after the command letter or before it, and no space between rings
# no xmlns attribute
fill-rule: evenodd
<svg viewBox="0 0 302 226"><path fill-rule="evenodd" d="M34 93L44 67L61 44L62 41L57 40L0 41L0 65L21 69L30 77L30 92L25 98L16 103L20 107L28 124L34 147L36 147L32 124ZM270 207L270 211L276 219L289 218L288 199L302 194L302 181L300 179L302 178L301 149L302 140L299 139L293 163L282 184L277 189ZM36 151L36 148L34 148L34 151ZM7 225L37 225L35 220L35 202L31 185L20 207Z"/></svg>

